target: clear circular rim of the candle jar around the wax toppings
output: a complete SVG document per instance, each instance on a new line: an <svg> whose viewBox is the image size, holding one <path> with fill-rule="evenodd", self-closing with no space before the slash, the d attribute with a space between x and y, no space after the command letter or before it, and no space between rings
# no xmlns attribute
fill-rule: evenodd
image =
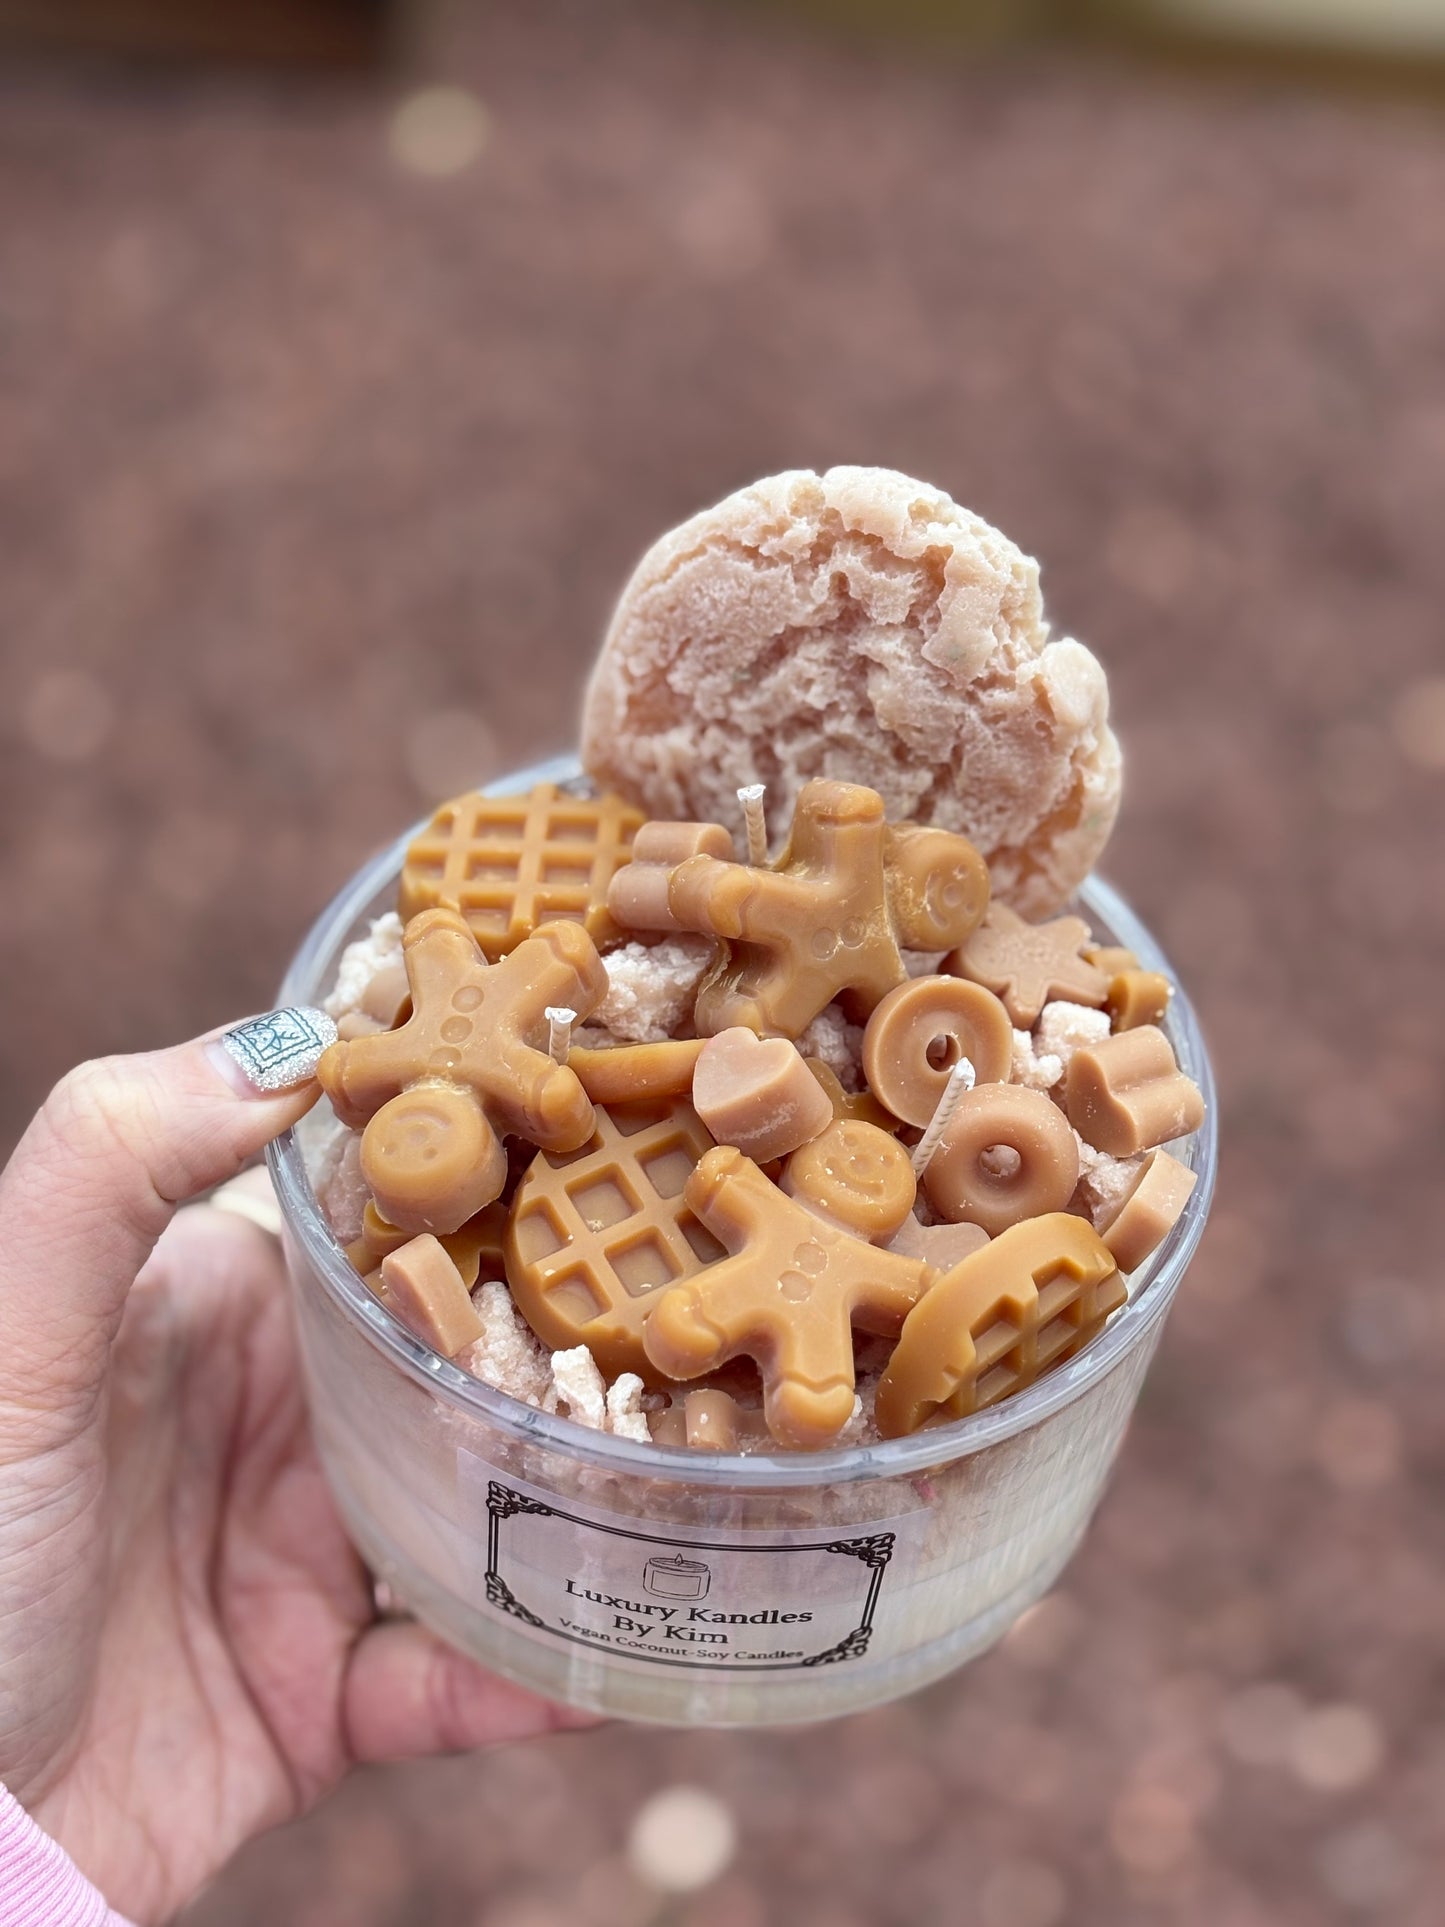
<svg viewBox="0 0 1445 1927"><path fill-rule="evenodd" d="M576 755L561 755L497 779L486 786L486 794L509 796L538 782L576 786L586 779ZM380 913L378 900L401 873L403 856L418 827L407 831L370 863L364 863L331 898L291 960L279 992L281 1004L318 1004L326 996L335 979L341 950L364 935L370 917ZM1090 923L1104 925L1116 942L1133 950L1144 969L1160 971L1177 985L1164 950L1117 890L1102 879L1090 877L1081 884L1075 902ZM301 1249L308 1270L347 1322L356 1326L374 1349L405 1376L426 1386L443 1403L495 1426L518 1443L541 1445L605 1472L690 1486L757 1491L898 1478L967 1459L1044 1424L1054 1412L1106 1378L1154 1332L1168 1312L1204 1233L1218 1172L1220 1131L1214 1071L1198 1017L1183 990L1175 989L1162 1027L1173 1043L1181 1069L1198 1083L1204 1095L1204 1123L1193 1139L1175 1147L1183 1154L1183 1162L1196 1172L1198 1181L1164 1243L1131 1274L1129 1303L1075 1359L1046 1372L1025 1391L1017 1391L983 1412L973 1412L969 1418L952 1418L907 1438L865 1445L794 1453L697 1453L686 1447L644 1445L636 1439L593 1432L570 1418L541 1412L511 1393L472 1378L449 1359L441 1359L391 1316L356 1274L328 1226L310 1187L295 1129L283 1131L266 1148L266 1162L281 1206L285 1233Z"/></svg>

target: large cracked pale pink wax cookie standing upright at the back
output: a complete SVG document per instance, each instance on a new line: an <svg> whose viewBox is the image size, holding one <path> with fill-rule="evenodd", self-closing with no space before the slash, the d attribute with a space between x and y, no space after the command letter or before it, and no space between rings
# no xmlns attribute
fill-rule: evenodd
<svg viewBox="0 0 1445 1927"><path fill-rule="evenodd" d="M651 817L769 831L809 777L961 831L1031 917L1089 875L1119 804L1108 684L1052 642L1038 567L890 468L790 470L644 555L591 676L582 761Z"/></svg>

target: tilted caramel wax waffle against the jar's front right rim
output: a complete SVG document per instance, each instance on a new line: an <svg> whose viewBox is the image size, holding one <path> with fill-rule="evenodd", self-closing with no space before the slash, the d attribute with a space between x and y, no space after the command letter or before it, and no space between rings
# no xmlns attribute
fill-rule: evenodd
<svg viewBox="0 0 1445 1927"><path fill-rule="evenodd" d="M938 1278L879 1380L884 1438L967 1418L1071 1359L1127 1293L1098 1233L1069 1212L1017 1224Z"/></svg>

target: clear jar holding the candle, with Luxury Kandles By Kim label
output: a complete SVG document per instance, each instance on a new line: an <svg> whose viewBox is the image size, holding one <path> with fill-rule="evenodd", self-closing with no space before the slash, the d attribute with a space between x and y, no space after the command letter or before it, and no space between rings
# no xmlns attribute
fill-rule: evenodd
<svg viewBox="0 0 1445 1927"><path fill-rule="evenodd" d="M493 784L578 779L559 759ZM297 954L283 1002L320 1002L345 944L395 904L408 838L368 863ZM1106 884L1102 942L1173 973ZM821 1453L667 1451L590 1432L470 1378L366 1289L293 1133L270 1150L316 1441L356 1547L439 1634L572 1705L676 1725L832 1719L990 1646L1040 1594L1104 1490L1216 1172L1204 1041L1164 1025L1206 1098L1179 1154L1183 1216L1085 1353L973 1418Z"/></svg>

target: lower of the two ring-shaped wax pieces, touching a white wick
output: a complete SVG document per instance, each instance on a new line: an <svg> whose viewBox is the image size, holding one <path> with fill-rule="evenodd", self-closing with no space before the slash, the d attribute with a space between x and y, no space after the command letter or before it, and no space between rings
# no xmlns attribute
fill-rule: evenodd
<svg viewBox="0 0 1445 1927"><path fill-rule="evenodd" d="M990 1237L1064 1210L1077 1183L1079 1147L1064 1112L1021 1085L965 1091L923 1174L940 1216L981 1224Z"/></svg>

